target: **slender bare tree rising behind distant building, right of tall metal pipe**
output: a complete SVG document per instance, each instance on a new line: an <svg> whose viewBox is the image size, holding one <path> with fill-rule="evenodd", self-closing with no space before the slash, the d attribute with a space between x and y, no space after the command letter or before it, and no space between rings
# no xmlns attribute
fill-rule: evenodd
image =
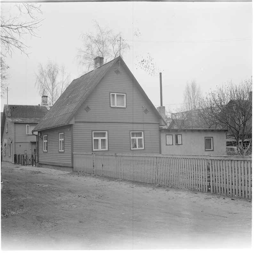
<svg viewBox="0 0 256 254"><path fill-rule="evenodd" d="M185 87L184 91L184 105L186 110L195 110L199 106L199 101L202 96L201 88L197 85L196 81L193 80Z"/></svg>

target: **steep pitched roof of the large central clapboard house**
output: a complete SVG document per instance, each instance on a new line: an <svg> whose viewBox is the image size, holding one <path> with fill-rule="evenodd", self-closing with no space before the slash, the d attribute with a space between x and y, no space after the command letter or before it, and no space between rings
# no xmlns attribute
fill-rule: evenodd
<svg viewBox="0 0 256 254"><path fill-rule="evenodd" d="M59 97L59 99L53 104L50 111L38 123L34 131L40 131L70 124L79 107L83 104L86 98L88 98L88 96L92 93L95 87L100 83L102 78L119 59L124 65L126 72L131 77L132 81L140 90L142 95L148 100L149 104L152 106L152 109L155 111L159 119L162 119L164 121L164 119L156 110L155 106L149 100L144 90L140 87L138 81L134 78L128 67L125 65L123 59L121 57L118 57L98 67L97 69L94 69L91 72L84 74L80 78L73 80L67 87L67 89L63 92L63 94Z"/></svg>

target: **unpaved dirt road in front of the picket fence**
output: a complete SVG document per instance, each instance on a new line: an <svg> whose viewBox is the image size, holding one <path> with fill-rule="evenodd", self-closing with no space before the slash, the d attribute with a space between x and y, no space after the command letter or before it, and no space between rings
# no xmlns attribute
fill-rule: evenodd
<svg viewBox="0 0 256 254"><path fill-rule="evenodd" d="M2 250L250 248L248 200L2 163Z"/></svg>

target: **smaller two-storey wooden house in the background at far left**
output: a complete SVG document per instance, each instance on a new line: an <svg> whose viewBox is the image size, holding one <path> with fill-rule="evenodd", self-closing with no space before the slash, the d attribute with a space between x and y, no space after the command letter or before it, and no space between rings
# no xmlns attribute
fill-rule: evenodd
<svg viewBox="0 0 256 254"><path fill-rule="evenodd" d="M3 161L14 162L14 154L36 154L36 136L32 135L32 130L47 111L47 104L4 105L1 121Z"/></svg>

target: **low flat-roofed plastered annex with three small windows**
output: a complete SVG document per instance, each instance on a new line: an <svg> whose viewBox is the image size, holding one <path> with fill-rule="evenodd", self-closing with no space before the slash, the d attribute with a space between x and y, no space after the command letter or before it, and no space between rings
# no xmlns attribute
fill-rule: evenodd
<svg viewBox="0 0 256 254"><path fill-rule="evenodd" d="M159 111L164 117L163 112ZM162 154L226 155L227 129L181 128L182 123L183 119L172 119L167 128L160 127Z"/></svg>

